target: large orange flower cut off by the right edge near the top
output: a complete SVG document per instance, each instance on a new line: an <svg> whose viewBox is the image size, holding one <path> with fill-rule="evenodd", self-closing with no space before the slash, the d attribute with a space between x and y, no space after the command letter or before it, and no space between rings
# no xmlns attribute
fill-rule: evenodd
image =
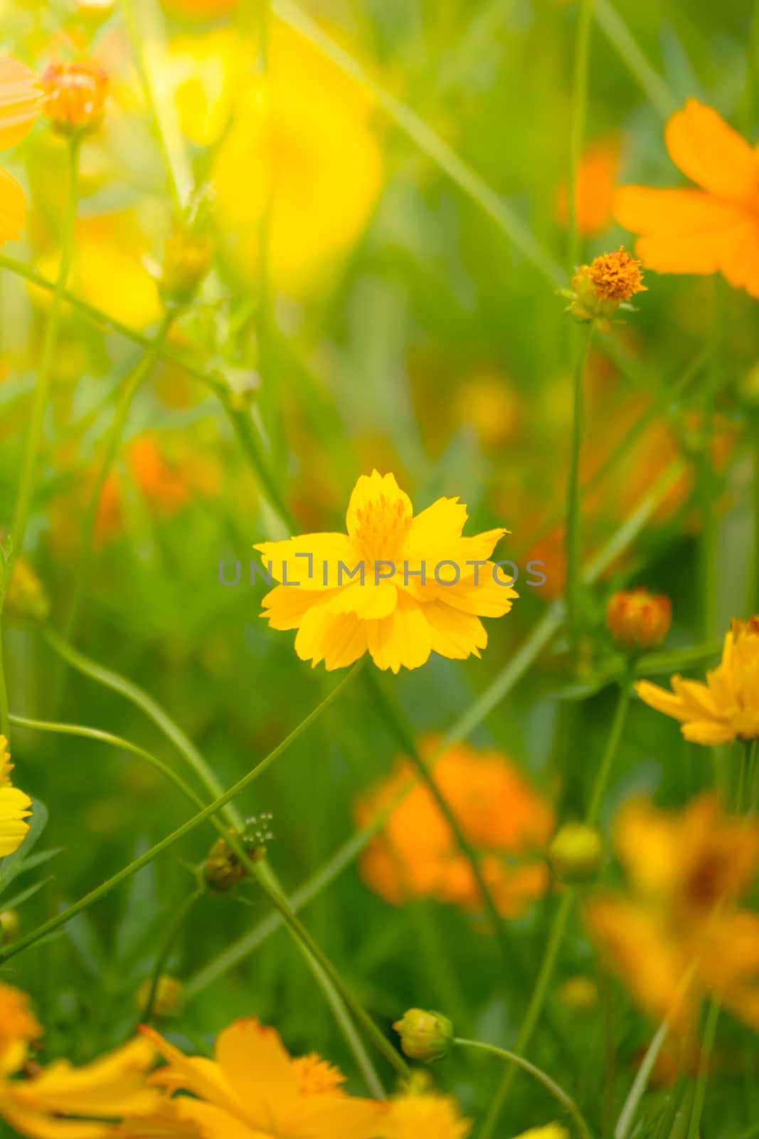
<svg viewBox="0 0 759 1139"><path fill-rule="evenodd" d="M673 162L701 189L626 186L614 216L640 233L636 252L662 273L721 272L759 297L759 157L711 107L688 99L669 120Z"/></svg>

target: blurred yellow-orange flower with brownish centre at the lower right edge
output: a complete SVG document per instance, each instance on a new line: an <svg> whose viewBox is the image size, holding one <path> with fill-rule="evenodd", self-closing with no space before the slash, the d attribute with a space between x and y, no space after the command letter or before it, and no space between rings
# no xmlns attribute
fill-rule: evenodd
<svg viewBox="0 0 759 1139"><path fill-rule="evenodd" d="M629 803L614 842L632 896L597 895L586 918L634 999L682 1034L702 993L759 1027L759 916L736 909L759 869L759 826L707 792L680 811Z"/></svg>

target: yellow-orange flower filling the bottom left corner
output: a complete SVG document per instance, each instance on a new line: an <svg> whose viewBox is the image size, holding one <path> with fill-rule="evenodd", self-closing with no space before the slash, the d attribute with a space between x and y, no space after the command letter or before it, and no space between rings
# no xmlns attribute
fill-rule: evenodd
<svg viewBox="0 0 759 1139"><path fill-rule="evenodd" d="M30 1040L42 1032L17 989L0 985L0 1118L33 1139L106 1139L122 1115L154 1112L160 1096L146 1087L155 1051L132 1040L83 1067L55 1060L26 1079L14 1080Z"/></svg>

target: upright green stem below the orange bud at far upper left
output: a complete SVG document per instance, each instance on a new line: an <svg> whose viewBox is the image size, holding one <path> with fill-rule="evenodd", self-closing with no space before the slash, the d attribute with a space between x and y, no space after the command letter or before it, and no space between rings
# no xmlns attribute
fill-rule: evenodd
<svg viewBox="0 0 759 1139"><path fill-rule="evenodd" d="M9 558L8 576L10 576L13 571L13 563L24 548L26 525L28 523L28 516L32 507L34 483L36 481L36 468L40 443L42 440L42 428L44 425L44 413L50 399L52 371L56 360L56 350L58 347L58 335L60 331L60 313L63 309L64 290L66 288L66 282L68 281L74 253L74 229L76 224L76 207L79 204L80 141L81 137L75 136L68 144L68 203L64 218L60 265L58 268L58 277L56 279L56 287L52 295L52 306L48 318L44 342L42 344L42 359L40 361L40 371L38 375L36 386L34 388L32 416L28 432L26 434L24 457L22 460L20 486L18 498L16 499L16 509L10 525L10 535L14 544Z"/></svg>

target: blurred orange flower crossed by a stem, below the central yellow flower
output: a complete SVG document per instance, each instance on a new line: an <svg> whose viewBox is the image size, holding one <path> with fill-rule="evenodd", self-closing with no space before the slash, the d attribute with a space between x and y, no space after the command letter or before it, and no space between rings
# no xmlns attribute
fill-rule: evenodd
<svg viewBox="0 0 759 1139"><path fill-rule="evenodd" d="M422 744L431 755L435 736ZM498 910L521 912L547 887L547 869L530 854L545 847L553 830L553 811L525 776L500 752L457 744L435 764L435 779L453 808L469 842L487 851L482 874ZM404 790L407 793L397 802ZM394 906L413 898L477 910L481 902L471 867L427 787L414 785L411 765L396 770L356 804L356 821L365 826L393 806L380 834L361 863L369 886Z"/></svg>

